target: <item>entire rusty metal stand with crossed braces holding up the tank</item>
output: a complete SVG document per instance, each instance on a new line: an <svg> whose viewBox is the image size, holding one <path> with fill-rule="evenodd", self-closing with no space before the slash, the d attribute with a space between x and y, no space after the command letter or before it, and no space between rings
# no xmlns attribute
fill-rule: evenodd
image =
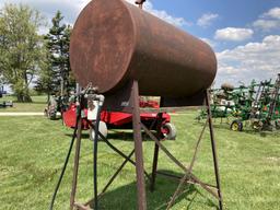
<svg viewBox="0 0 280 210"><path fill-rule="evenodd" d="M77 190L77 180L78 180L78 171L79 171L79 159L80 159L80 147L81 147L81 121L78 124L78 133L77 133L77 145L75 145L75 158L74 158L74 170L73 170L73 182L72 182L72 192L70 198L70 209L73 208L79 210L90 210L90 209L98 209L98 200L104 196L105 191L108 189L110 184L115 180L115 178L118 176L120 171L125 167L125 165L129 162L136 166L136 178L137 178L137 200L138 205L137 208L139 210L147 210L147 197L145 197L145 179L148 178L150 182L150 189L153 191L155 187L155 179L156 175L165 175L168 177L173 177L179 180L179 185L174 192L173 197L167 203L166 209L171 209L174 201L176 200L177 196L180 192L182 186L184 184L195 184L200 187L202 187L205 190L210 192L214 198L219 201L219 209L222 210L222 192L221 192L221 185L220 185L220 175L219 175L219 166L218 166L218 158L217 158L217 149L215 149L215 140L214 140L214 133L213 133L213 125L212 125L212 118L211 118L211 109L209 104L209 93L208 91L205 92L205 101L206 106L208 109L208 118L206 120L206 124L201 130L201 133L198 138L198 141L196 143L194 156L191 159L191 162L188 167L186 167L182 162L179 162L163 144L162 144L162 138L160 135L154 135L151 132L149 128L147 128L140 120L140 107L139 107L139 86L138 81L132 81L126 89L124 89L125 93L124 95L128 94L129 97L122 97L122 101L125 98L126 107L125 110L128 113L132 113L132 124L133 124L133 141L135 141L135 149L127 155L124 154L120 150L118 150L116 147L114 147L101 132L97 132L101 139L113 151L118 153L120 156L124 158L124 162L120 164L119 168L115 172L115 174L110 177L108 183L105 185L105 187L101 190L101 192L96 196L94 196L93 199L89 200L84 205L81 205L79 202L75 202L75 190ZM118 95L119 96L119 95ZM116 96L114 96L116 98ZM128 101L127 101L128 100ZM109 101L109 98L108 98ZM122 102L124 104L124 102ZM113 105L114 106L114 105ZM124 108L124 107L122 107ZM159 125L161 125L161 117L162 113L158 115L158 128ZM89 121L92 128L95 128L95 125L93 125L91 121ZM200 180L194 173L192 167L195 165L195 161L198 155L199 145L202 141L202 136L205 130L207 129L207 126L210 129L210 139L211 139L211 150L212 150L212 156L213 156L213 166L214 166L214 175L215 175L215 185L206 184L202 180ZM142 135L141 130L143 130L154 142L154 158L153 158L153 168L151 177L149 174L144 171L144 163L143 163L143 149L142 149ZM184 176L178 177L174 176L172 174L158 172L158 160L159 160L159 152L162 150L178 167L180 167L184 171ZM132 155L136 155L136 161L131 160ZM96 162L95 162L96 164Z"/></svg>

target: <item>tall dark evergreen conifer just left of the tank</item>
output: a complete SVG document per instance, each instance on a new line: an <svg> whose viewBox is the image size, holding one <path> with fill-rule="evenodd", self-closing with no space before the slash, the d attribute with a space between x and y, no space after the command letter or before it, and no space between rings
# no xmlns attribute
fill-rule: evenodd
<svg viewBox="0 0 280 210"><path fill-rule="evenodd" d="M51 20L52 26L45 36L46 65L39 74L36 90L49 94L66 94L70 88L74 86L71 77L69 61L69 45L71 26L61 24L63 16L57 11Z"/></svg>

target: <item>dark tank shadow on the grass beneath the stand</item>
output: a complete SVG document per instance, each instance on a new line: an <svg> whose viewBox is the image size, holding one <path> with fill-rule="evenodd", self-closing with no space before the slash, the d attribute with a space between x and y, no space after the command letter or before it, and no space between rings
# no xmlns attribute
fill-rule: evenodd
<svg viewBox="0 0 280 210"><path fill-rule="evenodd" d="M170 173L168 171L162 171L164 173ZM176 174L172 172L174 175L182 176L183 174ZM171 180L166 177L158 175L155 189L153 192L149 190L149 183L147 182L147 206L148 209L152 210L164 210L167 207L167 203L173 196L174 191L178 186L178 182ZM195 185L185 185L182 188L180 194L176 198L175 203L180 202L182 200L186 200L186 206L184 209L191 210L196 209L194 203L202 202L201 206L207 205L210 208L217 208L218 206L210 200L209 198L205 197L198 189L199 187ZM200 198L199 198L200 197ZM202 201L201 201L202 200ZM130 183L128 185L118 187L114 190L108 189L98 200L100 209L138 209L137 208L137 188L136 182Z"/></svg>

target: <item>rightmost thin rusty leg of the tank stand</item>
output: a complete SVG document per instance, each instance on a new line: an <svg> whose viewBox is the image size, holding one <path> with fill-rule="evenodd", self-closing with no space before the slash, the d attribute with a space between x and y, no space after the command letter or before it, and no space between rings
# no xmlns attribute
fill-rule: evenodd
<svg viewBox="0 0 280 210"><path fill-rule="evenodd" d="M210 102L209 102L209 92L206 91L206 105L207 105L207 113L208 113L208 122L209 122L209 129L210 129L210 137L211 137L211 147L212 147L212 155L213 155L213 163L214 163L214 174L215 174L215 183L218 188L218 196L219 196L219 209L223 209L222 203L222 191L221 191L221 184L220 184L220 173L219 173L219 164L218 164L218 158L217 158L217 148L215 148L215 141L214 141L214 132L213 132L213 124L212 124L212 114L210 108Z"/></svg>

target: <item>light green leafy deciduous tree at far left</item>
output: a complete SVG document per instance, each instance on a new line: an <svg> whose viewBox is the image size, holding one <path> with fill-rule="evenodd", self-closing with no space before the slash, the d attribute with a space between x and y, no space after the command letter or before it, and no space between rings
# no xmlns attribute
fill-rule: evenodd
<svg viewBox="0 0 280 210"><path fill-rule="evenodd" d="M43 25L38 11L23 4L5 4L0 11L0 69L19 102L31 102L30 85L42 62Z"/></svg>

